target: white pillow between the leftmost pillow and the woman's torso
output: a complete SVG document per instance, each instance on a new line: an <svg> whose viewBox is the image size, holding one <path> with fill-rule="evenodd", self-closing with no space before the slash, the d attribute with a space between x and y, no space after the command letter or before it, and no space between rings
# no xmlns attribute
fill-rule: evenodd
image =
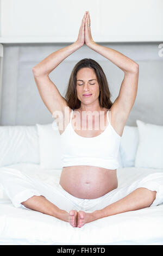
<svg viewBox="0 0 163 256"><path fill-rule="evenodd" d="M39 134L40 167L43 169L62 168L60 133L53 125L36 124Z"/></svg>

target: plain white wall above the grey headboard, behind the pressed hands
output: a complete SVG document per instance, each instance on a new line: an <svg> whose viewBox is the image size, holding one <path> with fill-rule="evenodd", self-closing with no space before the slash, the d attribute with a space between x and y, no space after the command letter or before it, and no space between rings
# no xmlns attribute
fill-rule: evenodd
<svg viewBox="0 0 163 256"><path fill-rule="evenodd" d="M1 0L1 38L73 42L85 10L95 41L163 41L162 0ZM29 40L30 38L30 40ZM9 40L9 39L8 39ZM17 39L18 40L18 39Z"/></svg>

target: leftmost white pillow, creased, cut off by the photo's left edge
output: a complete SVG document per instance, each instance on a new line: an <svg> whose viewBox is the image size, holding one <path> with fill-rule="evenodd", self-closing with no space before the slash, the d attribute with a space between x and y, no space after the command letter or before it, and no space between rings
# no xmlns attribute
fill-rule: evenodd
<svg viewBox="0 0 163 256"><path fill-rule="evenodd" d="M0 126L0 167L39 163L39 137L35 126Z"/></svg>

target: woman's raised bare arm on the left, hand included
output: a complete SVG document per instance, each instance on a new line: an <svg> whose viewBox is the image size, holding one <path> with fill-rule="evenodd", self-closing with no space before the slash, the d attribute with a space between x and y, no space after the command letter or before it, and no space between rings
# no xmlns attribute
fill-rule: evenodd
<svg viewBox="0 0 163 256"><path fill-rule="evenodd" d="M84 15L82 24L79 29L78 39L71 45L61 48L58 51L51 53L48 57L43 59L40 63L35 65L32 69L37 89L39 90L42 101L45 103L48 110L53 117L55 111L61 111L64 114L67 101L61 96L58 88L50 80L49 73L52 72L65 58L70 56L84 45ZM63 71L64 73L64 71ZM64 74L63 74L64 75Z"/></svg>

